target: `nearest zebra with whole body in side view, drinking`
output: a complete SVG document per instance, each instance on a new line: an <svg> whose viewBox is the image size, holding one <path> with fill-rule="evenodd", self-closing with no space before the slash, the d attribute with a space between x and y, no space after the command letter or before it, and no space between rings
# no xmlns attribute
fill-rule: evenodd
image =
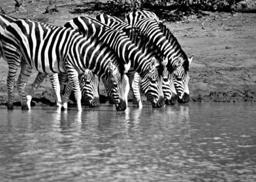
<svg viewBox="0 0 256 182"><path fill-rule="evenodd" d="M17 86L22 98L22 106L27 106L25 83L31 75L31 70L36 69L38 72L50 75L52 85L56 86L55 93L60 90L56 73L67 72L74 89L77 109L82 110L78 75L89 69L94 73L101 73L107 81L112 82L114 87L111 94L115 98L116 109L126 109L128 78L121 70L118 61L112 62L112 59L118 57L115 57L113 51L101 44L97 38L84 37L78 31L66 27L19 19L6 27L0 43L3 57L9 67L8 109L12 109L13 83L19 66L21 73ZM61 98L57 98L57 103L61 103Z"/></svg>

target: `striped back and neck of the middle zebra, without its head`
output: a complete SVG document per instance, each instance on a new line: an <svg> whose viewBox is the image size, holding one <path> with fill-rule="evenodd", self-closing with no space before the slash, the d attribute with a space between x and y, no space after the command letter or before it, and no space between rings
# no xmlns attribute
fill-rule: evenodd
<svg viewBox="0 0 256 182"><path fill-rule="evenodd" d="M110 47L117 53L118 57L125 64L131 61L131 67L136 68L142 77L148 73L148 70L144 66L150 66L151 60L131 42L126 32L114 30L97 19L89 17L74 18L64 26L73 27L74 29L78 28L86 36L92 34L93 38L99 39L104 45Z"/></svg>

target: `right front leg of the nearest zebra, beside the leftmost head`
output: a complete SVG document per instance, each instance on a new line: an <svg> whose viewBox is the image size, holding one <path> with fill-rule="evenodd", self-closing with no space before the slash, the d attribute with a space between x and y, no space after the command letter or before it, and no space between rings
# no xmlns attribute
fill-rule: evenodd
<svg viewBox="0 0 256 182"><path fill-rule="evenodd" d="M82 111L82 93L79 86L78 72L73 68L67 69L67 72L69 74L69 81L72 85L72 89L74 90L74 98L76 98L77 110Z"/></svg>

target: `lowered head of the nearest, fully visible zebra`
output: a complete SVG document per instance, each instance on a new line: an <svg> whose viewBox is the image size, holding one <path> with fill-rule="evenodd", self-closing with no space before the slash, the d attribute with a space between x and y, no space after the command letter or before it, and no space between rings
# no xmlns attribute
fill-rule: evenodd
<svg viewBox="0 0 256 182"><path fill-rule="evenodd" d="M127 75L120 73L120 70L113 62L108 63L108 77L104 85L106 86L108 96L110 96L116 105L116 110L125 110L127 108L130 90L129 79Z"/></svg>

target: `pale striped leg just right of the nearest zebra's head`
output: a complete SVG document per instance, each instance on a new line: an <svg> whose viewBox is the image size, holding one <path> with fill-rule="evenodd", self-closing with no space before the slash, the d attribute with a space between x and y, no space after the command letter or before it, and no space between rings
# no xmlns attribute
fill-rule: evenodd
<svg viewBox="0 0 256 182"><path fill-rule="evenodd" d="M127 75L133 91L133 98L136 99L136 104L141 109L143 105L140 98L140 75L137 72L129 72Z"/></svg>

